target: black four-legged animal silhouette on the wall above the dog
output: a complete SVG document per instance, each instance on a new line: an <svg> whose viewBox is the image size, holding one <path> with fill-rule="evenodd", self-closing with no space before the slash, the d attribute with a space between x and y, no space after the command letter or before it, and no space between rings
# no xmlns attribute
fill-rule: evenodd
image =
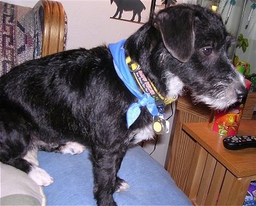
<svg viewBox="0 0 256 206"><path fill-rule="evenodd" d="M122 13L125 12L133 12L132 15L132 21L134 21L135 16L138 15L138 22L141 21L141 12L142 10L145 10L146 7L140 0L110 0L110 3L112 4L113 2L116 3L116 13L113 15L112 18L115 18L118 13L118 19L122 18Z"/></svg>

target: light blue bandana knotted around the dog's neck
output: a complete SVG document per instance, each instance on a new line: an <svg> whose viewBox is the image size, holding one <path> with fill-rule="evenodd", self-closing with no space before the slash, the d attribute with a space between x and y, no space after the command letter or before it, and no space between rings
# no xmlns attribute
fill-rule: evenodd
<svg viewBox="0 0 256 206"><path fill-rule="evenodd" d="M136 82L132 78L129 67L125 62L125 52L124 52L125 40L122 40L116 44L109 44L109 49L112 53L114 59L114 66L116 73L122 79L125 86L131 91L131 93L138 98L138 102L132 103L127 110L126 120L127 127L129 128L132 123L140 116L140 107L147 106L148 111L152 116L156 116L159 112L156 107L155 100L148 93L141 93Z"/></svg>

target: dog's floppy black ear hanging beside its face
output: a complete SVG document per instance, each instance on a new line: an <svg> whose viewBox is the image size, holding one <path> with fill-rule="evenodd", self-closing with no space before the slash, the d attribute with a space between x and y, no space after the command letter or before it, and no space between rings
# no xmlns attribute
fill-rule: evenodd
<svg viewBox="0 0 256 206"><path fill-rule="evenodd" d="M194 50L193 13L191 8L171 6L153 19L153 25L161 32L166 49L181 62L188 61Z"/></svg>

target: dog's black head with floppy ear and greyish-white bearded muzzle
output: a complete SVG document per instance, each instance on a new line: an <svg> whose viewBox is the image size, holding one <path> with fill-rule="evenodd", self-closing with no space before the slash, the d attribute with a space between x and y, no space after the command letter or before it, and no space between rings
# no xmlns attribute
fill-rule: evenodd
<svg viewBox="0 0 256 206"><path fill-rule="evenodd" d="M152 24L166 48L159 61L164 63L169 95L175 84L188 86L195 101L216 109L246 95L243 76L228 59L233 38L220 15L201 6L178 4L161 10Z"/></svg>

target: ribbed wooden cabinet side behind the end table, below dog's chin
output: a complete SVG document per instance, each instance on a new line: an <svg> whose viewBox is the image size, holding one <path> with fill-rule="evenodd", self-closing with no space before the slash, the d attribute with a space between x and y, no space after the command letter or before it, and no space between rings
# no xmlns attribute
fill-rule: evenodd
<svg viewBox="0 0 256 206"><path fill-rule="evenodd" d="M172 175L176 184L184 191L191 167L192 155L195 150L195 141L188 138L182 131L185 122L208 122L211 109L203 104L194 106L189 97L180 97L175 111L175 131L171 137L170 159L166 169ZM185 163L185 164L184 164Z"/></svg>

